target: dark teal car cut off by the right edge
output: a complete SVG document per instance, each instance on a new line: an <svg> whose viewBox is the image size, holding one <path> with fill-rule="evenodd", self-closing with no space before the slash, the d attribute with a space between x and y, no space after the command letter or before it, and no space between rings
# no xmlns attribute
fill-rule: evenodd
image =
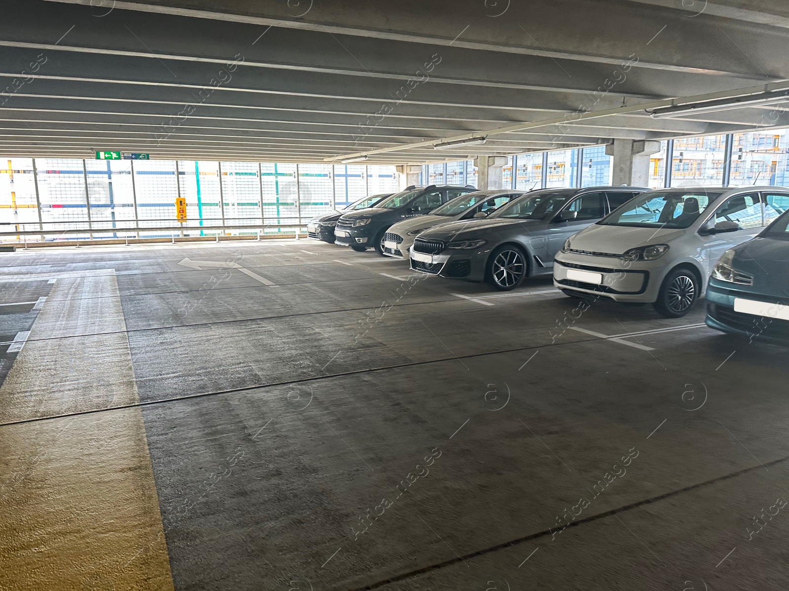
<svg viewBox="0 0 789 591"><path fill-rule="evenodd" d="M782 209L756 238L724 252L716 263L707 286L711 328L789 344L789 210Z"/></svg>

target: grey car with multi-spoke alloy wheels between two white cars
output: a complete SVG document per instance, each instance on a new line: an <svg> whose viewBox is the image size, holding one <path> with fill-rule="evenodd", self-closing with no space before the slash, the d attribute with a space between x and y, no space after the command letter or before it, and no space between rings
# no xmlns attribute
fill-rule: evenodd
<svg viewBox="0 0 789 591"><path fill-rule="evenodd" d="M565 241L649 188L589 187L531 191L485 219L453 221L413 241L411 269L488 281L500 291L524 277L551 275Z"/></svg>

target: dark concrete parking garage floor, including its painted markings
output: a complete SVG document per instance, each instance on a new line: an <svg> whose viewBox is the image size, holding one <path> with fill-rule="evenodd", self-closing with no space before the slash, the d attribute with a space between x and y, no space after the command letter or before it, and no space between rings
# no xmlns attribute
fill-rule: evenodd
<svg viewBox="0 0 789 591"><path fill-rule="evenodd" d="M307 240L2 257L0 589L789 586L787 350L701 306Z"/></svg>

